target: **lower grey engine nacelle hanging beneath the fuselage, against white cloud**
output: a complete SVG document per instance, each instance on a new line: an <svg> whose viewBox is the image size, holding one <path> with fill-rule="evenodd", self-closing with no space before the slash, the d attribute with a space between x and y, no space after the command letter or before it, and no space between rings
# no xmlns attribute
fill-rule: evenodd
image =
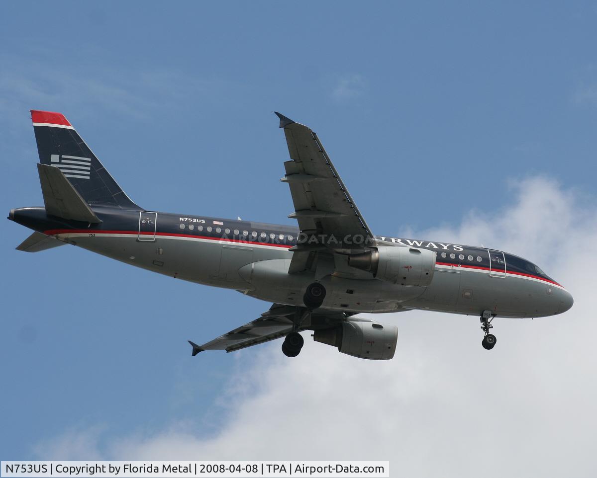
<svg viewBox="0 0 597 478"><path fill-rule="evenodd" d="M316 330L313 340L338 347L338 352L354 357L389 360L396 351L398 327L349 319L336 327Z"/></svg>

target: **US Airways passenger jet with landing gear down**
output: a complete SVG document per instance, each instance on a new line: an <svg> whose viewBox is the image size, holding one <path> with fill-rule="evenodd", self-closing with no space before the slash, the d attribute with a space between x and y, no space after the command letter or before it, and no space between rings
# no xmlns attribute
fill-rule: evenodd
<svg viewBox="0 0 597 478"><path fill-rule="evenodd" d="M302 331L363 359L394 356L398 328L359 313L413 309L475 315L491 350L496 316L536 318L573 305L562 285L522 257L440 241L374 235L318 135L280 113L298 226L173 214L137 206L61 113L31 110L44 207L8 219L33 229L17 250L82 247L159 274L237 290L272 303L261 316L198 345L233 352L284 337L296 357Z"/></svg>

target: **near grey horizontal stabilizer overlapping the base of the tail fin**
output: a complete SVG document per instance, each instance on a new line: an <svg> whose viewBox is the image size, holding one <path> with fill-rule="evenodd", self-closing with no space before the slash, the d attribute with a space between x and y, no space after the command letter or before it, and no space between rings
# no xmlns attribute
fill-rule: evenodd
<svg viewBox="0 0 597 478"><path fill-rule="evenodd" d="M91 224L101 222L60 169L38 164L38 172L46 213Z"/></svg>

